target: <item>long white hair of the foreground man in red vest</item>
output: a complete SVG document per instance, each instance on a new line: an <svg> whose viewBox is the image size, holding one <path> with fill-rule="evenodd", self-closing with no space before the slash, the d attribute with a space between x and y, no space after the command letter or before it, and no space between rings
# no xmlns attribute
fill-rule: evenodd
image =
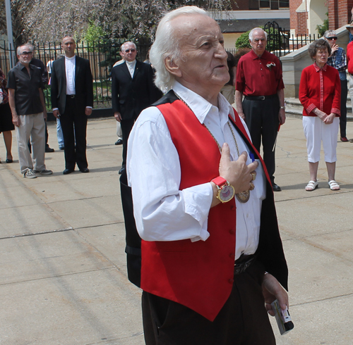
<svg viewBox="0 0 353 345"><path fill-rule="evenodd" d="M177 8L164 15L157 27L155 42L150 49L150 62L155 68L155 84L164 93L172 89L174 75L165 68L164 61L170 58L171 61L182 58L183 52L180 50L177 35L174 35L174 27L171 21L181 15L208 15L206 11L196 6L184 6Z"/></svg>

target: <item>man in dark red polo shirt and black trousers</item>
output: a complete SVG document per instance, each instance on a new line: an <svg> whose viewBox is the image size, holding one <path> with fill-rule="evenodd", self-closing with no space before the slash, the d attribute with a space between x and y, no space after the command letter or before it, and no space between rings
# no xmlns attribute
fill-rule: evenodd
<svg viewBox="0 0 353 345"><path fill-rule="evenodd" d="M277 56L265 50L267 32L256 27L249 33L249 42L253 49L240 58L237 67L235 103L258 151L262 138L263 161L268 168L273 191L280 192L273 174L277 130L286 118L282 66Z"/></svg>

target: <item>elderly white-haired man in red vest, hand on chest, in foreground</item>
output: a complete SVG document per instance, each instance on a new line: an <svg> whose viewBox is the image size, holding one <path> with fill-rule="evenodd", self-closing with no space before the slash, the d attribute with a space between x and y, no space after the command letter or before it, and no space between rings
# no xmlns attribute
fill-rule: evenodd
<svg viewBox="0 0 353 345"><path fill-rule="evenodd" d="M167 94L138 117L126 165L148 345L275 344L266 309L288 306L270 179L220 94L223 43L215 20L186 6L164 15L150 50Z"/></svg>

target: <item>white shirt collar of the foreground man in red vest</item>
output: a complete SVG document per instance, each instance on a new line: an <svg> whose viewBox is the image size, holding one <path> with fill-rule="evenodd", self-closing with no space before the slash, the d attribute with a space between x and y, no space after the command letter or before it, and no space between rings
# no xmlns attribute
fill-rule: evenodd
<svg viewBox="0 0 353 345"><path fill-rule="evenodd" d="M174 81L172 89L191 108L200 123L204 123L205 117L213 107L213 104L177 81ZM235 120L233 108L222 94L218 94L218 107L220 113L228 113Z"/></svg>

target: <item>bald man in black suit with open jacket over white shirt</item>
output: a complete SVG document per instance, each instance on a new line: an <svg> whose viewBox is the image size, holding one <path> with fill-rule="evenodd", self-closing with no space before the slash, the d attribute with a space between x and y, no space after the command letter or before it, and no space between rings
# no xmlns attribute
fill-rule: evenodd
<svg viewBox="0 0 353 345"><path fill-rule="evenodd" d="M86 158L87 116L93 107L93 80L90 62L75 55L75 40L66 36L61 42L65 57L52 66L52 108L60 118L64 135L64 175L75 170L90 172ZM76 146L75 146L76 141Z"/></svg>

